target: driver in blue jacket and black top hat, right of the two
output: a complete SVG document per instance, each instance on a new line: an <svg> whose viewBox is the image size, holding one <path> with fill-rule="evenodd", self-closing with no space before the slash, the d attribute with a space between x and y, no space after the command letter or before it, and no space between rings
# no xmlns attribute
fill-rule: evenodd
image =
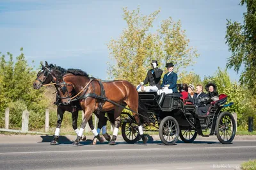
<svg viewBox="0 0 256 170"><path fill-rule="evenodd" d="M173 72L173 63L166 63L166 68L168 73L164 74L163 82L161 84L161 89L159 89L159 95L165 93L165 95L170 93L177 93L177 73Z"/></svg>

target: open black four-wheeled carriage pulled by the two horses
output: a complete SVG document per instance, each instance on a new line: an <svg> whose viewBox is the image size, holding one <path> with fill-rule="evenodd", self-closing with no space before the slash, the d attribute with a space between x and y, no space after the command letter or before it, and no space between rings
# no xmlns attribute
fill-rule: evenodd
<svg viewBox="0 0 256 170"><path fill-rule="evenodd" d="M175 144L179 137L184 143L192 143L196 135L217 135L220 143L228 144L236 135L234 117L230 112L221 111L233 104L224 105L227 102L226 95L222 94L218 101L211 102L205 116L199 116L196 105L182 100L179 93L166 95L162 105L159 105L159 95L155 92L140 92L139 98L147 111L147 114L142 114L139 109L140 117L144 120L144 131L147 131L147 127L158 128L154 131L159 131L159 137L164 144ZM124 140L127 143L136 143L140 135L132 116L122 122Z"/></svg>

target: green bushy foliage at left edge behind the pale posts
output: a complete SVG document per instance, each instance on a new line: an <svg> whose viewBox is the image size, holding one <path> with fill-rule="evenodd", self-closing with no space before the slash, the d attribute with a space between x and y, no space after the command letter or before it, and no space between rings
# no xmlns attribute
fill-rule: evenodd
<svg viewBox="0 0 256 170"><path fill-rule="evenodd" d="M28 109L30 116L29 127L42 128L45 109L49 107L49 100L45 97L45 89L33 89L33 81L36 71L25 59L20 49L20 55L15 62L13 55L7 52L0 58L0 112L4 118L6 107L10 107L10 128L21 127L21 115L24 109ZM4 127L4 120L0 120L0 127Z"/></svg>

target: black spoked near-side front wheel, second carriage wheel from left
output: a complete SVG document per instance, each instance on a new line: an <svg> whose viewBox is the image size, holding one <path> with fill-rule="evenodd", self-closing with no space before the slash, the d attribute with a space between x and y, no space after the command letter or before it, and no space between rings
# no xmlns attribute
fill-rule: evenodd
<svg viewBox="0 0 256 170"><path fill-rule="evenodd" d="M165 117L159 125L159 137L166 145L175 144L179 138L179 123L172 116Z"/></svg>

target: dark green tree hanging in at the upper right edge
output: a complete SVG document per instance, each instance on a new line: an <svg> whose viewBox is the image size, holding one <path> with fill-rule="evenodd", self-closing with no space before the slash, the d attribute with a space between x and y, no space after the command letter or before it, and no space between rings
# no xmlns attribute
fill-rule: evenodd
<svg viewBox="0 0 256 170"><path fill-rule="evenodd" d="M228 58L227 68L234 67L238 73L241 65L244 66L240 75L242 84L255 88L256 84L256 1L242 0L241 6L246 5L244 24L227 22L227 35L225 36L228 50L232 52Z"/></svg>

